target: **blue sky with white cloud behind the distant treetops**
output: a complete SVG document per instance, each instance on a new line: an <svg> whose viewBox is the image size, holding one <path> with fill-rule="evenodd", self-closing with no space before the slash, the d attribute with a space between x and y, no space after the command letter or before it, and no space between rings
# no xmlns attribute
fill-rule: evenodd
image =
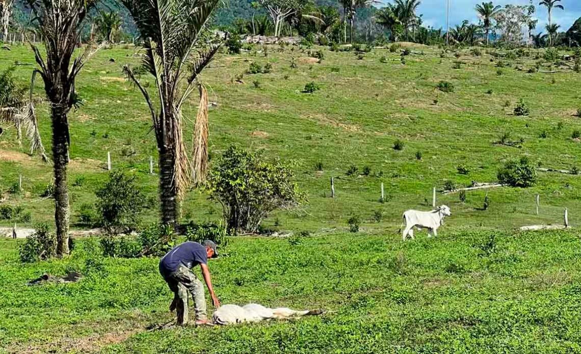
<svg viewBox="0 0 581 354"><path fill-rule="evenodd" d="M450 0L450 27L461 24L462 20L468 20L471 23L478 23L478 16L474 10L477 3L483 0ZM490 0L486 0L490 1ZM528 0L511 0L507 2L493 1L494 5L529 5ZM539 20L537 28L533 33L545 32L544 26L547 24L547 8L539 5L539 0L533 1L536 13L533 15ZM561 5L565 10L553 9L551 20L553 23L561 25L560 31L566 31L571 27L576 19L581 17L581 1L579 0L562 0ZM446 29L446 0L422 0L419 5L418 14L423 14L424 26L435 28L442 27Z"/></svg>

